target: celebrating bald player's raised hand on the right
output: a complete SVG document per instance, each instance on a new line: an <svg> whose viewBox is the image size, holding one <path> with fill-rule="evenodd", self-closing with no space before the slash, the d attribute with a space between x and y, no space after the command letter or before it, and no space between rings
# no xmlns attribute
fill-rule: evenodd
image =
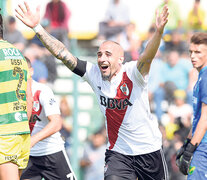
<svg viewBox="0 0 207 180"><path fill-rule="evenodd" d="M159 14L159 10L156 11L156 27L160 33L163 33L165 24L168 21L168 15L169 15L169 12L168 12L167 5L163 7L163 10L160 14Z"/></svg>

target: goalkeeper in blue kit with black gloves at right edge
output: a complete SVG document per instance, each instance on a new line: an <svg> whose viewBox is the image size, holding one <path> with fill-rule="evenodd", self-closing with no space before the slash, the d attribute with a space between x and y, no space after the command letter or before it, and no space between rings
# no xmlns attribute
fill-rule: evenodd
<svg viewBox="0 0 207 180"><path fill-rule="evenodd" d="M199 72L193 89L193 123L177 154L177 165L188 180L206 179L207 172L207 33L191 37L190 58Z"/></svg>

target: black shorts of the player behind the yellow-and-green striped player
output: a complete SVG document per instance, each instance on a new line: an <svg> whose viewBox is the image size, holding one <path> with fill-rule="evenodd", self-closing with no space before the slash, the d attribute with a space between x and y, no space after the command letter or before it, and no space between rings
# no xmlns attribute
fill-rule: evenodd
<svg viewBox="0 0 207 180"><path fill-rule="evenodd" d="M30 156L21 180L75 180L69 159L65 151L46 156Z"/></svg>

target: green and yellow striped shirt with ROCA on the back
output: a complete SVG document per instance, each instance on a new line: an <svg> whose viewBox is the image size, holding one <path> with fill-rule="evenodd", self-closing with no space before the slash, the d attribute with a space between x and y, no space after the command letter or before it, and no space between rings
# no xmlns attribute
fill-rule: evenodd
<svg viewBox="0 0 207 180"><path fill-rule="evenodd" d="M28 66L21 52L0 40L0 135L30 133L27 104Z"/></svg>

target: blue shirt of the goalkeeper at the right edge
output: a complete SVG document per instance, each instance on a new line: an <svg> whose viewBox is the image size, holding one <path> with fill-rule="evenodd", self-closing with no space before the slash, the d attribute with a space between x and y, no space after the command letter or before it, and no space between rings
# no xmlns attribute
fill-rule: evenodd
<svg viewBox="0 0 207 180"><path fill-rule="evenodd" d="M193 125L192 135L194 135L198 121L201 116L202 103L207 104L207 66L201 69L193 89ZM207 132L201 142L207 142Z"/></svg>

